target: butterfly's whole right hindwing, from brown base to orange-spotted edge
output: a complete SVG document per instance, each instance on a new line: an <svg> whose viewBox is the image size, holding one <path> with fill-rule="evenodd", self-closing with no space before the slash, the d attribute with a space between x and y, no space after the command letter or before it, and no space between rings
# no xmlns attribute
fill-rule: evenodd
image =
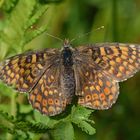
<svg viewBox="0 0 140 140"><path fill-rule="evenodd" d="M76 67L80 81L78 104L92 109L108 109L116 102L119 94L118 83L88 63ZM80 92L79 92L80 90Z"/></svg>

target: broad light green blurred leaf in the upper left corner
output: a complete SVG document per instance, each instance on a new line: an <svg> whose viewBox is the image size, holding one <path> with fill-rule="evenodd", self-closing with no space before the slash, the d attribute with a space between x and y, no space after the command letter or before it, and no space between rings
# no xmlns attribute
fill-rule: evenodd
<svg viewBox="0 0 140 140"><path fill-rule="evenodd" d="M24 28L32 15L34 7L35 0L21 0L18 1L16 7L12 10L7 26L4 28L3 33L1 33L2 40L10 47L22 46Z"/></svg>

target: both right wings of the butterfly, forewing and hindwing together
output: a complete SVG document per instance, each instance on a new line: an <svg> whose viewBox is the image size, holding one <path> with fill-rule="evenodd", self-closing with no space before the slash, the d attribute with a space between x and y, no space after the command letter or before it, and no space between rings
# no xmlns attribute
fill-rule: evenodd
<svg viewBox="0 0 140 140"><path fill-rule="evenodd" d="M110 108L119 94L118 82L140 69L140 47L96 44L79 47L79 52L85 55L76 58L80 60L76 67L78 103L93 109Z"/></svg>

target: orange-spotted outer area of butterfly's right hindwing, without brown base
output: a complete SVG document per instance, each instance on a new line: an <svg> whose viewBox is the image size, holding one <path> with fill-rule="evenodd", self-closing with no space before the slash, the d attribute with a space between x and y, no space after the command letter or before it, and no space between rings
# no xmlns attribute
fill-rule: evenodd
<svg viewBox="0 0 140 140"><path fill-rule="evenodd" d="M118 83L99 72L94 72L93 75L95 79L83 84L83 95L79 97L78 104L92 109L108 109L117 100Z"/></svg>

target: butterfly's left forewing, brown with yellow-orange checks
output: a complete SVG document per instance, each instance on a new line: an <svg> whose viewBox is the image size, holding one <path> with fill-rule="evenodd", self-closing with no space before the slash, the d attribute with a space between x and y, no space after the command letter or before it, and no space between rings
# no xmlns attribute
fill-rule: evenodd
<svg viewBox="0 0 140 140"><path fill-rule="evenodd" d="M13 56L0 64L0 79L19 92L30 92L54 56L53 49Z"/></svg>

